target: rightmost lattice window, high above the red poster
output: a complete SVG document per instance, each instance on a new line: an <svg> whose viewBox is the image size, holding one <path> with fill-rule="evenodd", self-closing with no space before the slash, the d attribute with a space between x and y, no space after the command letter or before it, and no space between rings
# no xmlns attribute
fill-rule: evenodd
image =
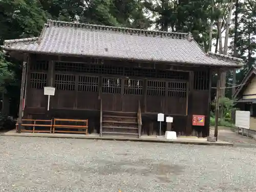
<svg viewBox="0 0 256 192"><path fill-rule="evenodd" d="M195 90L208 90L209 89L209 72L208 71L195 71L194 76L194 89Z"/></svg>

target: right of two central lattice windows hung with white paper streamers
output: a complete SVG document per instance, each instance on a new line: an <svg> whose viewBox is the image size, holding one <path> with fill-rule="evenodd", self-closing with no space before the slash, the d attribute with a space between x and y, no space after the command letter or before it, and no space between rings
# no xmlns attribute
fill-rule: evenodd
<svg viewBox="0 0 256 192"><path fill-rule="evenodd" d="M142 95L143 94L143 81L140 79L125 79L124 94Z"/></svg>

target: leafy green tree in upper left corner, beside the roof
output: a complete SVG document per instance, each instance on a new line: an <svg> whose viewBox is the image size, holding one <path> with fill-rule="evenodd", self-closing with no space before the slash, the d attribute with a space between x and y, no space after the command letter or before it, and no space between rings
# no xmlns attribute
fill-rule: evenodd
<svg viewBox="0 0 256 192"><path fill-rule="evenodd" d="M38 36L47 20L36 0L2 0L0 13L0 44L5 39Z"/></svg>

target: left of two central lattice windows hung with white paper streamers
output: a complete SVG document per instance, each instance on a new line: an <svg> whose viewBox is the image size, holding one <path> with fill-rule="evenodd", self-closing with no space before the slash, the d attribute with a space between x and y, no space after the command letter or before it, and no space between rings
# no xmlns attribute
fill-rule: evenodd
<svg viewBox="0 0 256 192"><path fill-rule="evenodd" d="M121 79L120 78L102 78L102 92L103 93L121 93Z"/></svg>

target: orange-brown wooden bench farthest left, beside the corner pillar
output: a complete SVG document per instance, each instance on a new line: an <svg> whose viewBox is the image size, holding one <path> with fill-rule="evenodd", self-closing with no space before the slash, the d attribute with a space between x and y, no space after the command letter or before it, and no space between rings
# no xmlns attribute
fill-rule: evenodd
<svg viewBox="0 0 256 192"><path fill-rule="evenodd" d="M27 122L30 121L30 122ZM40 122L37 124L37 122ZM42 122L45 122L43 124ZM52 133L52 120L41 120L41 119L22 119L23 127L33 127L32 130L22 129L21 132L30 133ZM48 130L36 130L36 127L48 127ZM18 123L16 123L16 132L18 131Z"/></svg>

